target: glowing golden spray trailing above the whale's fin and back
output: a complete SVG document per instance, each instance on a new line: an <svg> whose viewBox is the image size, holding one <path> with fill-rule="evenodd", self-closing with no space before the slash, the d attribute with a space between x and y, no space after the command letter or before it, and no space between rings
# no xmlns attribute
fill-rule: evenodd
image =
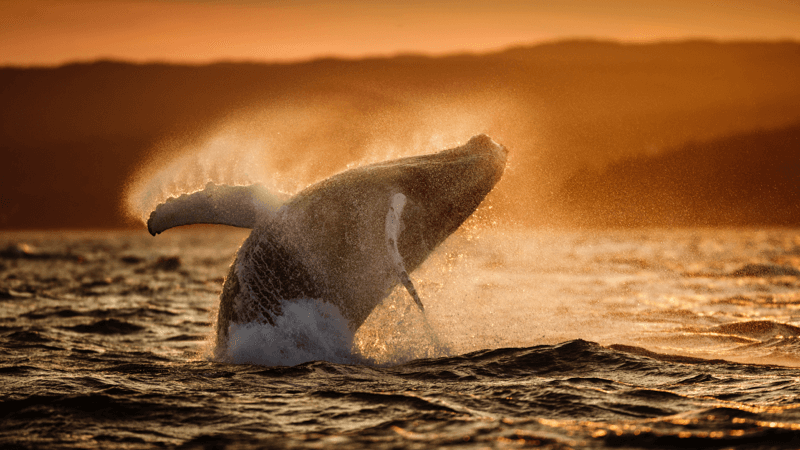
<svg viewBox="0 0 800 450"><path fill-rule="evenodd" d="M209 182L262 184L288 198L346 169L456 147L515 114L500 93L431 100L374 108L369 98L323 95L240 109L152 148L127 183L125 210L145 222L167 198Z"/></svg>

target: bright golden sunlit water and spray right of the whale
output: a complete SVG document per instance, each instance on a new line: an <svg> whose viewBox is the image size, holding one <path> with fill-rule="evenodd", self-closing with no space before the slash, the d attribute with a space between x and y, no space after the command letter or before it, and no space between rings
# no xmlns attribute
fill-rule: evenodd
<svg viewBox="0 0 800 450"><path fill-rule="evenodd" d="M800 231L457 233L413 274L450 354L585 339L800 365ZM356 346L379 362L431 353L396 289Z"/></svg>

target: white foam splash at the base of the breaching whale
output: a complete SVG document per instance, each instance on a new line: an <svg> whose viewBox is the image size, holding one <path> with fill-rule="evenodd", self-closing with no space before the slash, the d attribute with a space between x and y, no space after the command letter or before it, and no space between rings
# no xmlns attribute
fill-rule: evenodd
<svg viewBox="0 0 800 450"><path fill-rule="evenodd" d="M308 361L354 363L353 334L339 309L314 299L282 300L275 326L231 324L227 358L235 364L293 366Z"/></svg>

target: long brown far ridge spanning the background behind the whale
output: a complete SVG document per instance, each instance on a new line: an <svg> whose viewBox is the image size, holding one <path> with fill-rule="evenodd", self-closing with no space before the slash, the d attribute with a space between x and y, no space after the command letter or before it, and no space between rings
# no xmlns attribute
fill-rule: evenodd
<svg viewBox="0 0 800 450"><path fill-rule="evenodd" d="M488 133L512 152L494 210L546 224L548 199L580 167L800 122L798 79L800 44L791 42L573 41L441 58L0 68L0 228L131 226L121 195L153 149L168 158L251 110L269 112L254 117L279 128L272 138L285 142L272 158L297 182L376 148ZM180 145L160 147L165 140Z"/></svg>

